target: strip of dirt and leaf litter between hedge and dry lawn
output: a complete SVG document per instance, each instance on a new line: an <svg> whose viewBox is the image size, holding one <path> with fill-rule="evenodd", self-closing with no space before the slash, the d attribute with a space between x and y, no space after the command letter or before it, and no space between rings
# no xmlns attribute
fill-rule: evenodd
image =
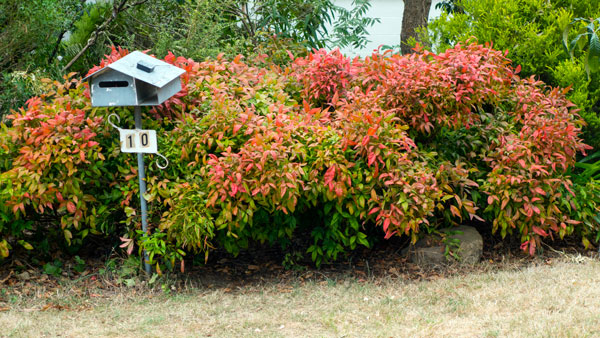
<svg viewBox="0 0 600 338"><path fill-rule="evenodd" d="M0 266L0 311L15 305L38 310L85 307L86 302L94 298L110 298L124 290L135 296L192 289L235 292L248 286L286 287L338 280L375 284L386 280L423 281L547 265L566 256L596 256L594 251L584 251L568 242L555 243L559 244L555 249L544 247L545 250L535 257L518 250L518 243L511 245L489 235L484 243L482 261L473 266L418 266L401 254L401 249L407 243L395 239L371 250L357 250L345 259L325 264L319 269L310 262L284 266L283 255L279 251L256 249L237 257L217 251L210 256L207 264L193 264L190 260L186 262L185 273L171 272L162 277L146 276L137 265L137 260L114 252L104 257L56 257L47 262L36 260L37 264L32 263L29 257L17 256ZM55 270L48 268L48 264L52 266L54 263L60 267Z"/></svg>

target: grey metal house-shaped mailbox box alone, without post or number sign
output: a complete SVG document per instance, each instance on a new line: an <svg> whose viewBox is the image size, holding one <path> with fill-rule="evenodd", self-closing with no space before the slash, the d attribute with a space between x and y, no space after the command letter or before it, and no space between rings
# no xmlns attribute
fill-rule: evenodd
<svg viewBox="0 0 600 338"><path fill-rule="evenodd" d="M181 90L185 70L142 52L125 57L84 78L92 107L156 106Z"/></svg>

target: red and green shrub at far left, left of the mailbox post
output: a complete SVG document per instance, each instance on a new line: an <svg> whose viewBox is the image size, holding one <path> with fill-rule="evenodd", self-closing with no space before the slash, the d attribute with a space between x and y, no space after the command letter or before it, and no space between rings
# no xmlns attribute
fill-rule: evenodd
<svg viewBox="0 0 600 338"><path fill-rule="evenodd" d="M70 242L73 230L85 237L96 228L92 192L105 157L95 137L102 119L86 116L89 105L79 81L53 86L47 96L31 98L25 109L8 116L12 126L6 136L16 153L2 178L13 187L7 205L15 214L58 216Z"/></svg>

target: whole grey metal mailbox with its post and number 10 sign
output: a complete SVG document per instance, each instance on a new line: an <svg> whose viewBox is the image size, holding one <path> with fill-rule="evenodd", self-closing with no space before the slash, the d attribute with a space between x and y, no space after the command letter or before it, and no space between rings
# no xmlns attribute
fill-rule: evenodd
<svg viewBox="0 0 600 338"><path fill-rule="evenodd" d="M148 231L148 206L144 153L158 153L156 131L142 130L142 106L156 106L181 90L180 76L185 71L142 52L132 52L88 75L92 107L133 106L135 129L119 130L121 152L137 153L142 230ZM111 116L117 115L111 114ZM165 158L166 160L166 158ZM168 161L167 161L168 163ZM159 165L160 167L160 165ZM150 273L148 254L144 251L144 268Z"/></svg>

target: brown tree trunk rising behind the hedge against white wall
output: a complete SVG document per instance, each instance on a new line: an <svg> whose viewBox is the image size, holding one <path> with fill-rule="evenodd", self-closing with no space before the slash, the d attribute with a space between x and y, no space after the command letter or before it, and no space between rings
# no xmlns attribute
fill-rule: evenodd
<svg viewBox="0 0 600 338"><path fill-rule="evenodd" d="M404 0L404 15L402 16L402 33L400 35L400 50L402 54L410 54L414 51L407 44L414 37L419 41L415 32L417 27L427 27L431 0Z"/></svg>

